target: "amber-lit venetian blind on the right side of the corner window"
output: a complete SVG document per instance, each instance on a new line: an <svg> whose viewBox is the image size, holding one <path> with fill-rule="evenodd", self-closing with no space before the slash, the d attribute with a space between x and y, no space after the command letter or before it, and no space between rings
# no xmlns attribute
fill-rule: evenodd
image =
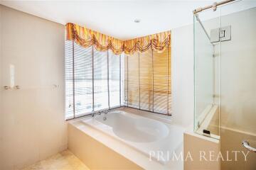
<svg viewBox="0 0 256 170"><path fill-rule="evenodd" d="M171 115L171 47L124 57L124 104Z"/></svg>

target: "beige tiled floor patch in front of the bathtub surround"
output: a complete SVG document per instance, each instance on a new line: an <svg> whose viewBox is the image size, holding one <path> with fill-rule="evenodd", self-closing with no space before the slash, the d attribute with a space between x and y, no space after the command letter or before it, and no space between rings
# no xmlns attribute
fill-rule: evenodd
<svg viewBox="0 0 256 170"><path fill-rule="evenodd" d="M49 157L23 170L89 170L78 157L68 150Z"/></svg>

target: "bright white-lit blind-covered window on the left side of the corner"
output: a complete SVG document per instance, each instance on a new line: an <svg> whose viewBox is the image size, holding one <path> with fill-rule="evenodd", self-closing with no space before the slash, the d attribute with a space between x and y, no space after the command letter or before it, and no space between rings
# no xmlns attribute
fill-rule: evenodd
<svg viewBox="0 0 256 170"><path fill-rule="evenodd" d="M122 56L65 41L65 113L77 118L122 106Z"/></svg>

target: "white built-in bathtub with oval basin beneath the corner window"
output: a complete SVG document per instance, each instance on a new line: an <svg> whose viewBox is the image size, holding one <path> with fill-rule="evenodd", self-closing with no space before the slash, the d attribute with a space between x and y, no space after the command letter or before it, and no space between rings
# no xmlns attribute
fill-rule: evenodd
<svg viewBox="0 0 256 170"><path fill-rule="evenodd" d="M112 111L106 115L97 115L95 118L89 117L80 121L124 142L146 156L151 154L151 159L154 161L166 164L173 152L183 144L184 129L172 125L170 121L167 123L157 120L157 116L148 118L138 113L134 114L133 111L137 110ZM143 112L143 115L154 115L144 111L139 112ZM104 117L107 119L105 120Z"/></svg>

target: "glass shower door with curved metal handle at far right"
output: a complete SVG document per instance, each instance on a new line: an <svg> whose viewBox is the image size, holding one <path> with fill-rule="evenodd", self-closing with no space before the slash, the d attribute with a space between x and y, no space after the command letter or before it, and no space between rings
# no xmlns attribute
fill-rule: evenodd
<svg viewBox="0 0 256 170"><path fill-rule="evenodd" d="M250 8L228 14L246 3ZM231 40L221 42L220 51L223 170L256 169L256 152L246 148L247 142L256 148L256 8L252 5L238 1L220 7L221 27L231 26Z"/></svg>

